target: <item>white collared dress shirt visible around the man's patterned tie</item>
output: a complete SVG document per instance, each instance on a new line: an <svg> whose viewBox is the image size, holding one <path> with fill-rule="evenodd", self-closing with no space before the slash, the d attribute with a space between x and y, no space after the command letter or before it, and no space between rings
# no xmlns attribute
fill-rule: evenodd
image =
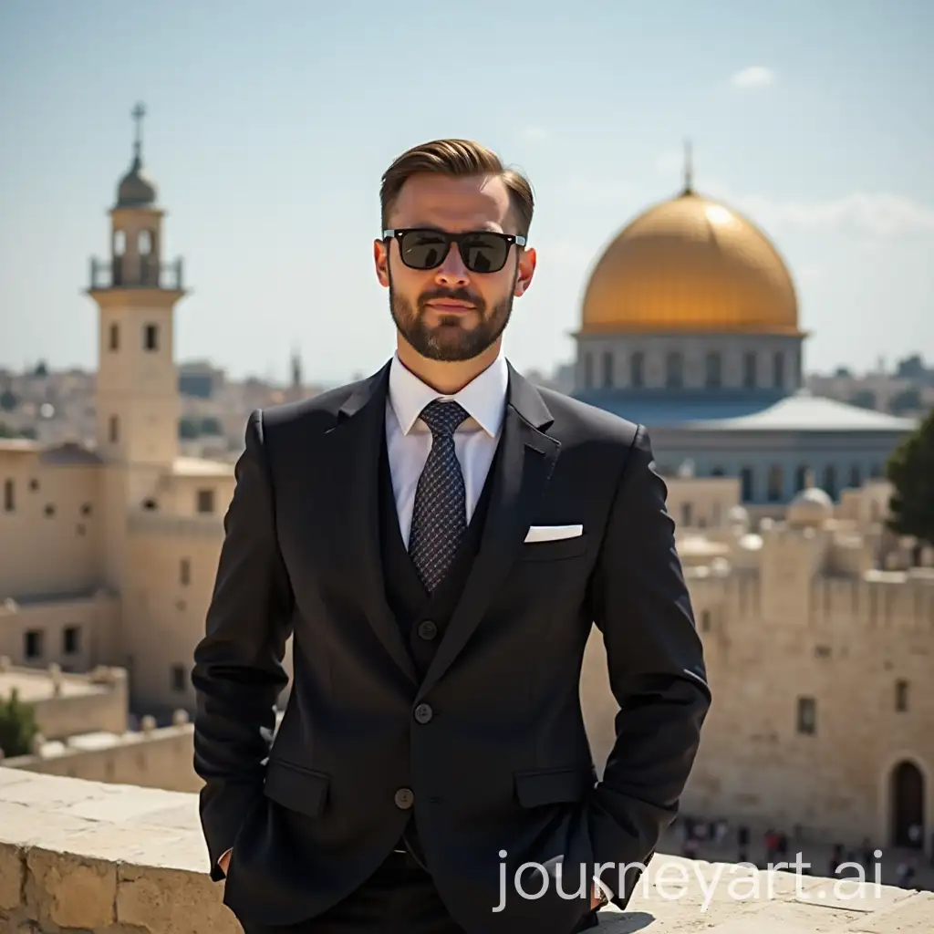
<svg viewBox="0 0 934 934"><path fill-rule="evenodd" d="M406 369L398 354L393 355L386 399L386 445L399 531L406 548L418 477L432 449L432 432L419 417L422 410L435 399L453 400L460 403L469 416L454 432L454 450L464 477L467 521L470 522L499 443L508 382L509 371L505 358L500 355L459 392L453 396L444 395L426 386Z"/></svg>

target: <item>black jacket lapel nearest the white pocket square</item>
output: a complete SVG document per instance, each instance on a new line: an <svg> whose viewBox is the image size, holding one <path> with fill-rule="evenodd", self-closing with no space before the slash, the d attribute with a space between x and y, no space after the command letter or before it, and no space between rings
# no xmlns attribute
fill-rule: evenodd
<svg viewBox="0 0 934 934"><path fill-rule="evenodd" d="M542 396L509 366L509 389L486 525L474 566L422 682L421 697L437 684L467 644L493 594L516 559L559 454Z"/></svg>

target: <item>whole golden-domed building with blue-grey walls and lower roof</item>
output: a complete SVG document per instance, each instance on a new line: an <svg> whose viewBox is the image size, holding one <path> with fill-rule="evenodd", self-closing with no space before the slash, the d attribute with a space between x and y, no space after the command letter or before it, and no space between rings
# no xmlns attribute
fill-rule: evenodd
<svg viewBox="0 0 934 934"><path fill-rule="evenodd" d="M837 500L884 475L912 418L802 389L796 290L769 238L684 190L605 248L575 334L575 389L642 422L665 473L735 476L743 502L779 505L813 472Z"/></svg>

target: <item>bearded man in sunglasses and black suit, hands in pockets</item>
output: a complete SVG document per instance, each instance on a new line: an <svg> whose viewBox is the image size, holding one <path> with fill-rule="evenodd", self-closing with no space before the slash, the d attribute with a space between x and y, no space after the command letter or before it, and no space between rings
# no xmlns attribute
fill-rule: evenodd
<svg viewBox="0 0 934 934"><path fill-rule="evenodd" d="M502 356L528 181L442 140L381 202L396 353L248 421L192 674L212 878L248 934L571 934L626 905L710 703L667 490L644 428ZM620 706L599 783L594 623Z"/></svg>

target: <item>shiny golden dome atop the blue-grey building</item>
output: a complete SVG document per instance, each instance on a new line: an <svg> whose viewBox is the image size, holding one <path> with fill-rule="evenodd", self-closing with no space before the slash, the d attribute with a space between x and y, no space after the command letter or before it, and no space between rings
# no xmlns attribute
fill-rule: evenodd
<svg viewBox="0 0 934 934"><path fill-rule="evenodd" d="M607 247L584 298L580 333L800 334L798 300L768 237L688 180Z"/></svg>

